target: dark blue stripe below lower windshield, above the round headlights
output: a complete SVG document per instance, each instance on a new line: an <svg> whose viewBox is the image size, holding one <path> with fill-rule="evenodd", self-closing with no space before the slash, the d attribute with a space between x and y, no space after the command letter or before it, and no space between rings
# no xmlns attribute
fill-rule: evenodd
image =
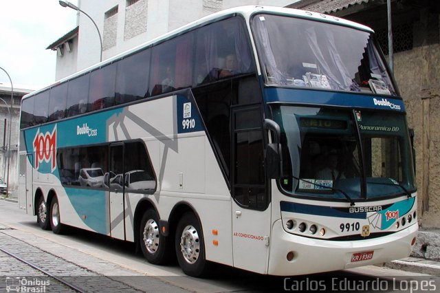
<svg viewBox="0 0 440 293"><path fill-rule="evenodd" d="M306 215L318 215L327 217L341 217L351 219L366 219L366 213L344 213L330 206L314 206L311 204L298 204L296 202L281 202L281 211Z"/></svg>

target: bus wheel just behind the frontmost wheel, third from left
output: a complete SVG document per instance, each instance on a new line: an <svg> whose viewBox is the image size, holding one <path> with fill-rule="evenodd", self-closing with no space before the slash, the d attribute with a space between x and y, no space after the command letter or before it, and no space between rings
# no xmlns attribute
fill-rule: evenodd
<svg viewBox="0 0 440 293"><path fill-rule="evenodd" d="M173 257L173 241L160 233L159 217L152 208L146 210L140 221L139 243L148 263L163 265Z"/></svg>

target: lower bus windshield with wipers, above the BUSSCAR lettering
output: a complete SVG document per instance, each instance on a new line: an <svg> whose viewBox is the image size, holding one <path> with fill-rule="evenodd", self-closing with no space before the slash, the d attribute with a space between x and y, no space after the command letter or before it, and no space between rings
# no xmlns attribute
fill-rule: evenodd
<svg viewBox="0 0 440 293"><path fill-rule="evenodd" d="M287 193L372 199L415 190L403 113L287 105L272 109L282 131L287 176L281 187Z"/></svg>

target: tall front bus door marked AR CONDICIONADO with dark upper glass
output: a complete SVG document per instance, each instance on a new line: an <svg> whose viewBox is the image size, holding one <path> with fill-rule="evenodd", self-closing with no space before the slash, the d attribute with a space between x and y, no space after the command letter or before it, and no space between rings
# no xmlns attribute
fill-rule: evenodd
<svg viewBox="0 0 440 293"><path fill-rule="evenodd" d="M271 209L264 171L261 108L238 107L232 115L234 267L265 274Z"/></svg>

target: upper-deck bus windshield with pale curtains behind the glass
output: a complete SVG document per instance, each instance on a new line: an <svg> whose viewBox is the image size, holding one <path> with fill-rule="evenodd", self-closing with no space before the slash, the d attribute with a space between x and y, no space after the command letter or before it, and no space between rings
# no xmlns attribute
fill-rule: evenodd
<svg viewBox="0 0 440 293"><path fill-rule="evenodd" d="M267 85L396 95L370 32L271 14L252 30Z"/></svg>

